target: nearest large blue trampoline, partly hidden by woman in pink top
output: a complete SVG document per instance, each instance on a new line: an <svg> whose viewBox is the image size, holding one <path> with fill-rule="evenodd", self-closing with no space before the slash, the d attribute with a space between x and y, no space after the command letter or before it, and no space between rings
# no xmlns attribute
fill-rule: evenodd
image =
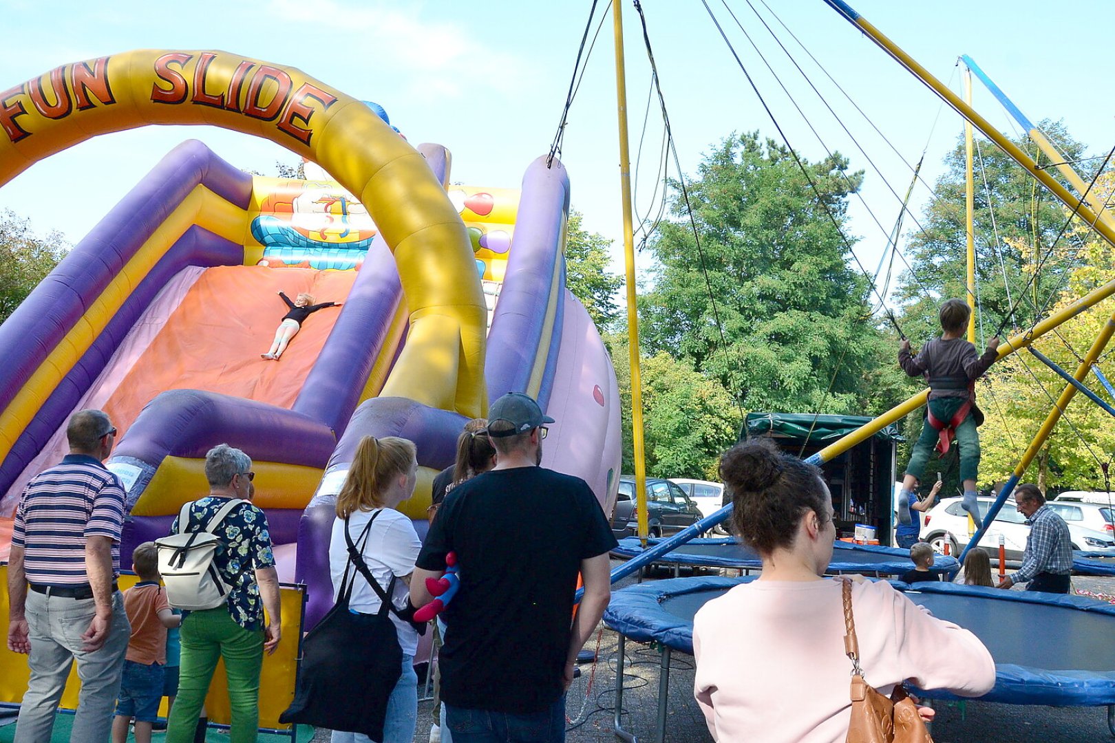
<svg viewBox="0 0 1115 743"><path fill-rule="evenodd" d="M666 700L670 654L692 654L692 619L706 602L743 578L672 578L630 586L612 594L604 623L619 633L615 674L615 734L634 740L620 725L624 642L657 643L661 662L658 740L666 735ZM995 658L995 687L979 697L1004 704L1107 706L1107 726L1115 735L1115 606L1080 596L1009 592L951 583L920 583L895 588L927 607L933 616L970 629ZM1034 642L1040 630L1041 642ZM923 692L929 698L958 698L944 691Z"/></svg>

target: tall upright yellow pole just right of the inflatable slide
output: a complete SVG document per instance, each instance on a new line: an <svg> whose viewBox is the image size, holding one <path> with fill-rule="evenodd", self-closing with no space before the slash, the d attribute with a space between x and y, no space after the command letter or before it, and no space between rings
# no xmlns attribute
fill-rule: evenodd
<svg viewBox="0 0 1115 743"><path fill-rule="evenodd" d="M634 450L634 497L639 516L639 539L647 546L647 462L642 438L642 375L639 372L639 312L636 306L634 235L631 219L631 157L627 131L627 81L623 71L622 2L612 3L615 35L615 98L620 119L620 190L623 201L623 258L627 264L628 355L631 364L631 442Z"/></svg>

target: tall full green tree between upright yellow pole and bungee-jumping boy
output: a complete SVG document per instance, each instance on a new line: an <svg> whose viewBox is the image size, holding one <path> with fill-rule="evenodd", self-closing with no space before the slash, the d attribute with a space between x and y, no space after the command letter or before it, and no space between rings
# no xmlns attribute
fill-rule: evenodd
<svg viewBox="0 0 1115 743"><path fill-rule="evenodd" d="M700 252L679 199L679 218L650 245L643 350L688 361L749 410L863 412L879 329L867 280L833 224L845 224L863 174L840 155L803 164L817 193L793 155L758 134L705 158L689 185Z"/></svg>

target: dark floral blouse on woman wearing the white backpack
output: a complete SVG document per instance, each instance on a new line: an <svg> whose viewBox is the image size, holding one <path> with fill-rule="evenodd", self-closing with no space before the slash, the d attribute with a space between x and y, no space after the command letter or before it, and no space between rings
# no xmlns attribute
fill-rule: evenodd
<svg viewBox="0 0 1115 743"><path fill-rule="evenodd" d="M215 496L195 500L190 507L187 530L202 529L226 502L227 498ZM177 531L178 519L175 517L171 534ZM221 544L213 556L213 564L225 583L233 586L229 593L229 613L244 629L263 629L263 600L260 598L254 570L274 567L275 564L268 517L258 506L244 501L239 508L232 509L217 525L214 534Z"/></svg>

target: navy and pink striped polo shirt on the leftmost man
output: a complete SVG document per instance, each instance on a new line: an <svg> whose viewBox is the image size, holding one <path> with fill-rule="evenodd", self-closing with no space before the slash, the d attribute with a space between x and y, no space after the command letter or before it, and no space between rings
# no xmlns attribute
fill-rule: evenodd
<svg viewBox="0 0 1115 743"><path fill-rule="evenodd" d="M124 487L94 457L67 454L60 465L27 483L12 526L11 544L23 548L27 580L40 586L89 583L87 537L113 540L113 577L120 574Z"/></svg>

